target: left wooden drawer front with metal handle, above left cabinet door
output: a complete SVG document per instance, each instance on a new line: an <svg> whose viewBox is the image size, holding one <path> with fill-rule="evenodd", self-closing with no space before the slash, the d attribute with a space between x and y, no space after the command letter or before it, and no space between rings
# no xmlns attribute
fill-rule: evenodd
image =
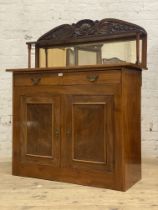
<svg viewBox="0 0 158 210"><path fill-rule="evenodd" d="M17 74L14 77L15 86L59 85L62 83L58 74Z"/></svg>

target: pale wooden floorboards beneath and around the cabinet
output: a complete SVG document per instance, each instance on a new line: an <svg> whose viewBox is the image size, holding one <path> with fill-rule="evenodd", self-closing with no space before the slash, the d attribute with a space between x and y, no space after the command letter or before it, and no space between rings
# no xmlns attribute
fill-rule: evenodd
<svg viewBox="0 0 158 210"><path fill-rule="evenodd" d="M143 163L143 178L127 192L11 175L0 162L0 210L158 210L158 160Z"/></svg>

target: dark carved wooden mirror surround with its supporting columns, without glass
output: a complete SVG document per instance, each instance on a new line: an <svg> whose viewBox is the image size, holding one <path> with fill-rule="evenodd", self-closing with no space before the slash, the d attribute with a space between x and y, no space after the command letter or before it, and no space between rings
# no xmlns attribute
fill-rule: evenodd
<svg viewBox="0 0 158 210"><path fill-rule="evenodd" d="M63 24L42 35L36 42L27 42L28 67L31 68L31 49L35 45L35 67L39 68L39 49L65 47L84 43L136 40L136 65L147 68L147 32L144 28L126 21L107 18L103 20L80 20L72 25ZM140 63L140 40L142 58ZM98 54L99 59L99 54ZM76 61L75 61L76 62ZM46 65L47 67L47 65Z"/></svg>

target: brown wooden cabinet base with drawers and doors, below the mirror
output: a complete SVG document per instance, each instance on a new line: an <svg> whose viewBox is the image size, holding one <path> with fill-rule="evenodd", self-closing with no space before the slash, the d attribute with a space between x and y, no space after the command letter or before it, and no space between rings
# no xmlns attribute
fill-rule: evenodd
<svg viewBox="0 0 158 210"><path fill-rule="evenodd" d="M13 174L121 191L140 180L141 71L131 68L15 70Z"/></svg>

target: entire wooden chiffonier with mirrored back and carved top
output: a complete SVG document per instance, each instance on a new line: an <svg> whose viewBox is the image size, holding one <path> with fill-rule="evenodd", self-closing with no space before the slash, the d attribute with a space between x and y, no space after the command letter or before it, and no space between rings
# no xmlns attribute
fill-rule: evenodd
<svg viewBox="0 0 158 210"><path fill-rule="evenodd" d="M86 19L27 45L28 68L7 70L13 174L126 191L141 179L146 31Z"/></svg>

